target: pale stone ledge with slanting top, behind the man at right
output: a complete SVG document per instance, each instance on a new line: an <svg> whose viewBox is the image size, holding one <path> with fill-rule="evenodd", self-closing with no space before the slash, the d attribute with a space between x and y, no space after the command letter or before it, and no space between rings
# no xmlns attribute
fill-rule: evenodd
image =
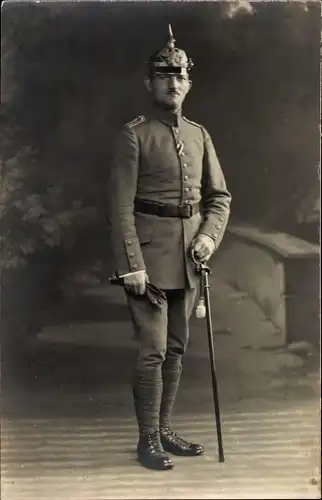
<svg viewBox="0 0 322 500"><path fill-rule="evenodd" d="M318 245L234 221L213 262L214 274L258 304L284 345L319 345Z"/></svg>

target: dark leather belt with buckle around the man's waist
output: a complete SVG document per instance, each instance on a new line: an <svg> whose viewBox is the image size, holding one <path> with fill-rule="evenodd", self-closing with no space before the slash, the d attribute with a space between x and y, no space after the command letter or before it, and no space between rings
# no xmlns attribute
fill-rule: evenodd
<svg viewBox="0 0 322 500"><path fill-rule="evenodd" d="M179 217L189 219L200 212L200 204L168 205L147 200L135 200L135 212L157 215L159 217Z"/></svg>

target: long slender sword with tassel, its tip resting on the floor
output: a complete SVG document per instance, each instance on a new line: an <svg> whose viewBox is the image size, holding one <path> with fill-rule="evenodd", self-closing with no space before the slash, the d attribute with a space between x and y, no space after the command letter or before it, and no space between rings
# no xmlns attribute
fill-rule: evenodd
<svg viewBox="0 0 322 500"><path fill-rule="evenodd" d="M218 457L219 457L219 462L224 462L225 457L224 457L224 448L223 448L222 433L221 433L219 391L218 391L218 382L216 375L215 346L214 346L214 338L212 330L210 294L209 294L209 289L210 289L209 274L211 274L211 270L206 264L202 263L196 258L194 251L192 251L192 260L195 263L196 272L200 276L200 297L196 309L196 315L197 318L206 317L206 322L207 322L212 393L213 393L213 400L215 407L215 419L216 419L216 430L217 430L217 441L218 441Z"/></svg>

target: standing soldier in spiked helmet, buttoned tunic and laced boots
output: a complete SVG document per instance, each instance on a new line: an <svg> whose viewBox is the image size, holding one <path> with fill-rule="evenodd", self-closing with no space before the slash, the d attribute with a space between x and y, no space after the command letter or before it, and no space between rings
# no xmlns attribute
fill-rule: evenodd
<svg viewBox="0 0 322 500"><path fill-rule="evenodd" d="M110 183L115 272L123 278L138 338L137 456L158 470L173 468L167 453L204 451L173 431L171 414L199 281L191 252L205 262L218 248L231 201L208 132L182 115L192 66L175 47L170 26L167 46L148 61L151 109L123 128ZM149 283L163 292L160 307L147 299Z"/></svg>

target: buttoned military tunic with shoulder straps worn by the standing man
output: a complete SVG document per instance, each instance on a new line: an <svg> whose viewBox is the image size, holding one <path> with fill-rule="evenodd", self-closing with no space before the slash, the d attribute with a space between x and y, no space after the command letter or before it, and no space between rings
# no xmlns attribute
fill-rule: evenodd
<svg viewBox="0 0 322 500"><path fill-rule="evenodd" d="M118 275L146 270L161 289L198 284L190 258L198 233L220 244L231 195L208 132L181 113L153 108L118 137L109 194L110 237ZM202 202L191 218L134 211L134 200L171 205Z"/></svg>

